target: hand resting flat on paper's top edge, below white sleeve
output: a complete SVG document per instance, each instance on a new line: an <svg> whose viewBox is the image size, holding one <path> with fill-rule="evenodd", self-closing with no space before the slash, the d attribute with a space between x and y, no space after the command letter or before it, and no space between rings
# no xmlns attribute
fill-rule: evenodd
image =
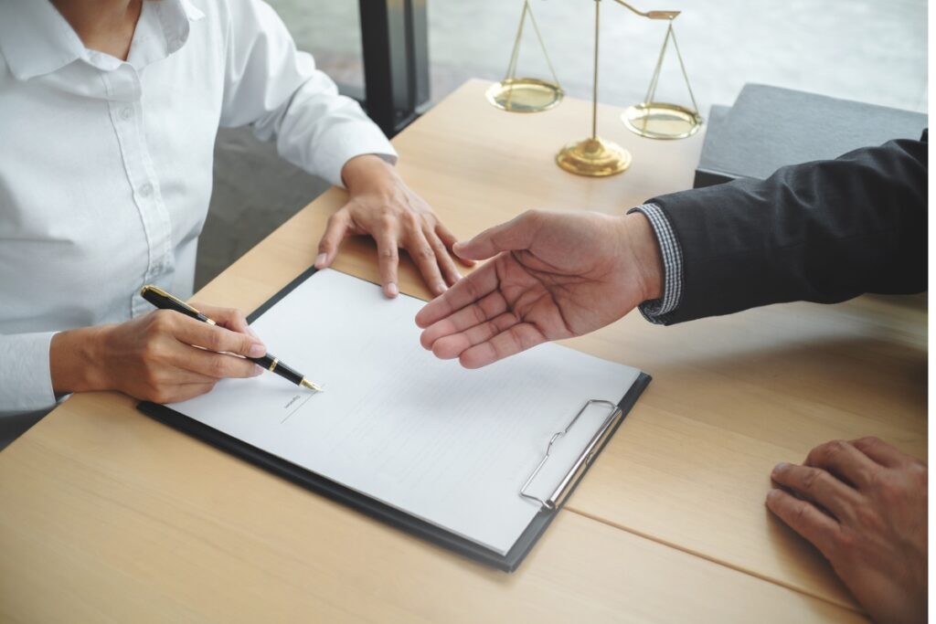
<svg viewBox="0 0 936 624"><path fill-rule="evenodd" d="M318 243L316 268L328 267L348 236L369 234L377 241L380 283L387 297L396 297L399 250L416 263L433 295L446 292L461 273L452 259L457 240L435 216L429 204L403 183L396 170L378 156L366 154L349 160L342 169L348 203L331 218ZM474 262L462 260L466 267Z"/></svg>

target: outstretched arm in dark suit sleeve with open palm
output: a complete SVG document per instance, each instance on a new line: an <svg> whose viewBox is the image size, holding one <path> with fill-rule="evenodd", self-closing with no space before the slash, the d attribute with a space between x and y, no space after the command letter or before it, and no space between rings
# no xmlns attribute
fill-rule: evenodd
<svg viewBox="0 0 936 624"><path fill-rule="evenodd" d="M767 181L657 197L642 214L524 213L456 246L462 258L493 260L419 312L423 345L475 368L604 327L637 305L670 324L781 301L919 292L926 188L925 143L899 140Z"/></svg>

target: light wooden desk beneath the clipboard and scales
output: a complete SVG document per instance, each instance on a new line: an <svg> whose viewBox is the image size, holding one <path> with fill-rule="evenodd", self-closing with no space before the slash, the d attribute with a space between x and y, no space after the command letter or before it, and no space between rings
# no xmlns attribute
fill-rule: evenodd
<svg viewBox="0 0 936 624"><path fill-rule="evenodd" d="M402 174L461 237L519 211L622 213L691 185L701 137L587 180L552 156L588 132L568 100L511 115L472 81L394 140ZM518 146L522 146L519 148ZM312 264L331 190L197 298L249 311ZM338 268L376 280L373 244ZM404 292L427 291L408 263ZM763 506L769 468L877 434L926 453L926 300L862 297L654 327L575 348L654 376L519 572L494 572L163 427L112 393L73 397L0 453L2 621L863 621Z"/></svg>

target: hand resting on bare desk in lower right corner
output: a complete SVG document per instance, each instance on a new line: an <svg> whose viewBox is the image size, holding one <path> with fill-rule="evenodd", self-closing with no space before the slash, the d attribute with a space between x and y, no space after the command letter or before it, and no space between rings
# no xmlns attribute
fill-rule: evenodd
<svg viewBox="0 0 936 624"><path fill-rule="evenodd" d="M778 464L770 511L825 555L876 622L927 618L927 465L877 438Z"/></svg>

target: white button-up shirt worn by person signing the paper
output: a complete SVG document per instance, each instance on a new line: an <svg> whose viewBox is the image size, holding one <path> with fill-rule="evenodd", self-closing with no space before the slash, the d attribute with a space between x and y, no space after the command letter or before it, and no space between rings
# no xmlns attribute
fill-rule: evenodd
<svg viewBox="0 0 936 624"><path fill-rule="evenodd" d="M395 158L260 0L145 0L125 62L0 0L0 414L54 405L55 331L149 312L144 283L192 292L214 137L247 124L333 184Z"/></svg>

